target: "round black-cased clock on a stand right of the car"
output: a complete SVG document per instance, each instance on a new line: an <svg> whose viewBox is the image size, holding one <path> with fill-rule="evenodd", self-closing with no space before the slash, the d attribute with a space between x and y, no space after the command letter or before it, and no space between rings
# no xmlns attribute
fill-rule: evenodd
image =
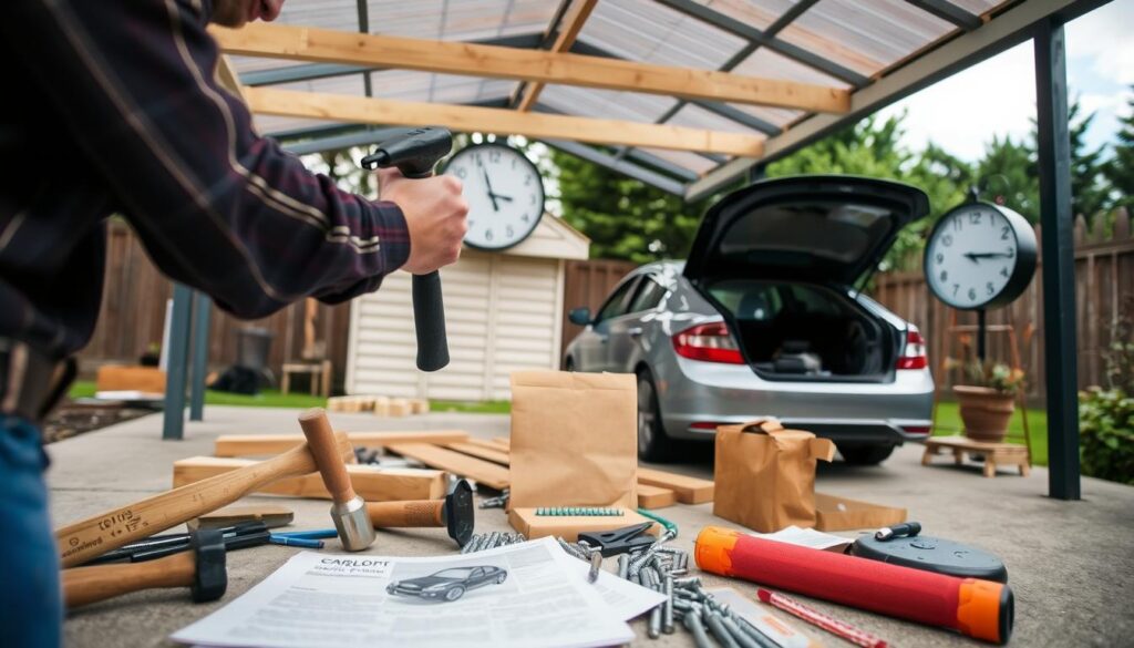
<svg viewBox="0 0 1134 648"><path fill-rule="evenodd" d="M1014 300L1035 268L1035 234L1010 209L963 204L938 221L925 245L925 278L939 300L982 309Z"/></svg>

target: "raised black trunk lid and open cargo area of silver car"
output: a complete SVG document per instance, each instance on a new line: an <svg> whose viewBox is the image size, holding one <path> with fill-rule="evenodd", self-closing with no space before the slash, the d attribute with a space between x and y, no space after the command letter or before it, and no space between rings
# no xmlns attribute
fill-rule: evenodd
<svg viewBox="0 0 1134 648"><path fill-rule="evenodd" d="M705 213L683 272L773 380L892 380L902 336L848 293L929 213L916 187L853 176L755 183Z"/></svg>

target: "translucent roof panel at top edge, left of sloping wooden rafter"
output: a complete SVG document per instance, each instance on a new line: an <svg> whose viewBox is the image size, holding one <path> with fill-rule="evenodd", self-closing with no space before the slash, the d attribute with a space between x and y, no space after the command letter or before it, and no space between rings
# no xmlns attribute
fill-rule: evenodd
<svg viewBox="0 0 1134 648"><path fill-rule="evenodd" d="M375 34L446 41L542 33L556 12L548 0L370 0Z"/></svg>

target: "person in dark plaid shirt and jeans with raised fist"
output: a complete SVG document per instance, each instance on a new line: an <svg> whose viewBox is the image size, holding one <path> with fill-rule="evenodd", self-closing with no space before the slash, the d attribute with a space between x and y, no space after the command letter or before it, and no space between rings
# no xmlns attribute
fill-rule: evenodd
<svg viewBox="0 0 1134 648"><path fill-rule="evenodd" d="M121 214L171 278L245 318L375 291L457 260L468 210L448 176L335 187L260 137L213 79L205 31L284 0L11 0L0 20L0 637L60 643L59 562L39 421L91 336L105 224Z"/></svg>

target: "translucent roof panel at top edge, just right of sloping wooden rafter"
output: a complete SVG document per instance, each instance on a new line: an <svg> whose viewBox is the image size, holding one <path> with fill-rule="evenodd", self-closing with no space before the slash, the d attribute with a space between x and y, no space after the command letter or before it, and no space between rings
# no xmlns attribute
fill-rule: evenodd
<svg viewBox="0 0 1134 648"><path fill-rule="evenodd" d="M579 41L629 60L717 69L746 41L651 0L602 0Z"/></svg>

